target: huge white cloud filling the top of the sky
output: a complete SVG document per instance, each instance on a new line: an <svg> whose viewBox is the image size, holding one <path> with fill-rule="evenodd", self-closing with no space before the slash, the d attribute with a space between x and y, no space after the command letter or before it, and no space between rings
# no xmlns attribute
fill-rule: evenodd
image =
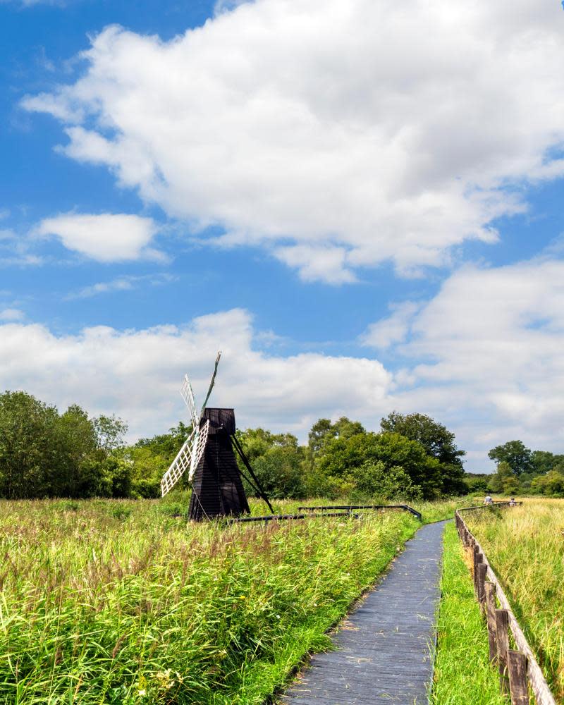
<svg viewBox="0 0 564 705"><path fill-rule="evenodd" d="M513 185L562 175L557 2L231 5L168 42L108 27L80 80L23 104L73 159L308 280L448 263L525 208Z"/></svg>

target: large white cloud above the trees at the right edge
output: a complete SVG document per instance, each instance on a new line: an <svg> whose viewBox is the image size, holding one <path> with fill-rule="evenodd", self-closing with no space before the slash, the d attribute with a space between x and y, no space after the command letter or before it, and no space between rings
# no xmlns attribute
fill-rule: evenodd
<svg viewBox="0 0 564 705"><path fill-rule="evenodd" d="M364 342L396 343L405 368L395 405L453 424L463 447L482 451L482 468L484 451L511 439L562 451L562 259L465 266L420 311L398 307L370 326Z"/></svg>

